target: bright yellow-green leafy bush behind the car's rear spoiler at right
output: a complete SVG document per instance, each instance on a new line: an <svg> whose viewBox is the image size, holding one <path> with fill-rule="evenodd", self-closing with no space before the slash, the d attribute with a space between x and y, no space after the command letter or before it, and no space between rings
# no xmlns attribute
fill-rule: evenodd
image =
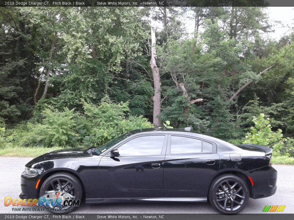
<svg viewBox="0 0 294 220"><path fill-rule="evenodd" d="M254 117L252 122L255 126L250 128L250 132L247 132L244 143L271 147L273 148L273 155L276 156L291 156L294 150L294 140L291 138L283 138L281 129L272 131L269 120L269 118L265 119L263 113L259 114L258 117Z"/></svg>

